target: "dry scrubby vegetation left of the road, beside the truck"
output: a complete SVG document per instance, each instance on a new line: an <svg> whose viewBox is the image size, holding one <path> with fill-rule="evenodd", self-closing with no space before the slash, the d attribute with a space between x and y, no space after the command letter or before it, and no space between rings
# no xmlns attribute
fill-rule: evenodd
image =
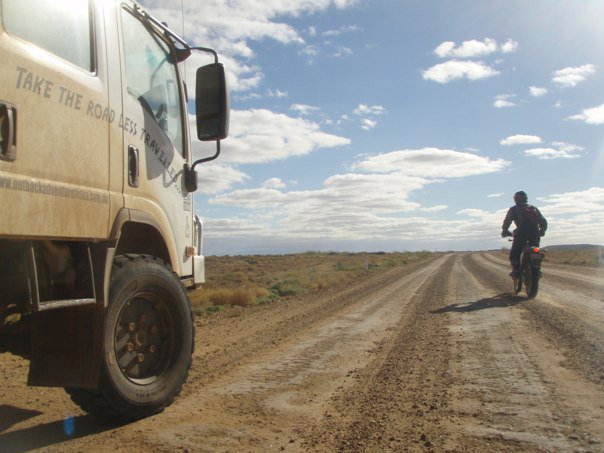
<svg viewBox="0 0 604 453"><path fill-rule="evenodd" d="M406 266L429 255L431 252L210 256L206 258L206 283L191 293L191 302L196 314L263 304Z"/></svg>

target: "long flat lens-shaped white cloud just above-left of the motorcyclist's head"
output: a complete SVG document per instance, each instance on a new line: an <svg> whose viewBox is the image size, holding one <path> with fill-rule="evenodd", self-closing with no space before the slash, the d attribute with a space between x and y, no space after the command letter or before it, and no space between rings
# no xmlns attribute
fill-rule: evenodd
<svg viewBox="0 0 604 453"><path fill-rule="evenodd" d="M396 173L423 178L460 178L493 173L507 167L504 159L448 149L424 148L365 156L353 169L375 173Z"/></svg>

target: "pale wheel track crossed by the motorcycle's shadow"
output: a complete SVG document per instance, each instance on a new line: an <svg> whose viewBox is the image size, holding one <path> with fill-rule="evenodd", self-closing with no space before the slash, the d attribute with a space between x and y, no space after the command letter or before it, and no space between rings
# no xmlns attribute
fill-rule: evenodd
<svg viewBox="0 0 604 453"><path fill-rule="evenodd" d="M451 329L462 431L481 448L519 451L590 450L604 435L602 389L560 366L560 353L526 319L526 299L498 284L475 255L452 274L457 302ZM505 274L504 274L505 275ZM594 404L594 398L597 403Z"/></svg>

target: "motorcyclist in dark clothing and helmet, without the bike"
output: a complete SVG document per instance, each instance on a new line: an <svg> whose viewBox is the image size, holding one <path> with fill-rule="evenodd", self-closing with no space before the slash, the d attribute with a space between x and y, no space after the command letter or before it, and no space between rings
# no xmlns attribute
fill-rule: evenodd
<svg viewBox="0 0 604 453"><path fill-rule="evenodd" d="M510 263L512 272L510 276L515 277L520 272L520 255L524 244L539 246L541 236L547 230L547 220L541 215L539 209L528 204L528 197L524 191L514 194L514 206L508 209L508 213L501 226L501 237L514 236L512 250L510 250ZM509 228L512 221L516 224L514 233Z"/></svg>

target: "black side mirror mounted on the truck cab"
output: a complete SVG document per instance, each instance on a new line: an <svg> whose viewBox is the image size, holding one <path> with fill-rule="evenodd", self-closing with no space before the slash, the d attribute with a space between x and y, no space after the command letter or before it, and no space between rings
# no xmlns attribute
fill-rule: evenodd
<svg viewBox="0 0 604 453"><path fill-rule="evenodd" d="M199 140L222 140L229 135L229 93L222 64L197 69L195 107Z"/></svg>

